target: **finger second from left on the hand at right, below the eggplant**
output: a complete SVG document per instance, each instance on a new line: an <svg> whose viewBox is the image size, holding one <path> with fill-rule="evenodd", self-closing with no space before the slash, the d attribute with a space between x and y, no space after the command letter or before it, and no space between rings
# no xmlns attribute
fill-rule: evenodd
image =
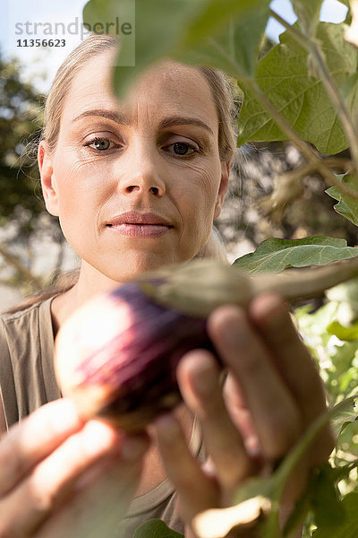
<svg viewBox="0 0 358 538"><path fill-rule="evenodd" d="M253 464L243 439L226 410L217 360L209 351L187 353L177 369L184 402L200 420L204 445L216 468L217 480L233 490L251 474Z"/></svg>

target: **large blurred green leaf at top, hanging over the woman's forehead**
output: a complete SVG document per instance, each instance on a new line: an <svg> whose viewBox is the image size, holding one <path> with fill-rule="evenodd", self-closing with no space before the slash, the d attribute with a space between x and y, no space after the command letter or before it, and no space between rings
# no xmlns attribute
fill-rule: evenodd
<svg viewBox="0 0 358 538"><path fill-rule="evenodd" d="M84 7L83 20L91 25L114 21L129 1L108 0L103 4L102 0L90 0ZM117 95L123 98L141 71L163 57L189 64L208 63L231 74L237 70L253 74L268 4L268 0L136 0L135 65L126 66L120 52L115 72ZM262 16L261 7L266 8ZM131 43L126 47L132 47ZM227 59L227 55L232 58Z"/></svg>

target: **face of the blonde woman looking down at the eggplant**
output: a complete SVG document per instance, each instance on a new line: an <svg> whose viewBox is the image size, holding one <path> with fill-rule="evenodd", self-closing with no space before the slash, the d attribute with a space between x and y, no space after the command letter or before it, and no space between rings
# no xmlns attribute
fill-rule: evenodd
<svg viewBox="0 0 358 538"><path fill-rule="evenodd" d="M166 61L120 102L110 90L111 59L95 56L75 75L55 152L42 143L38 161L47 210L84 265L123 282L205 246L228 165L203 75Z"/></svg>

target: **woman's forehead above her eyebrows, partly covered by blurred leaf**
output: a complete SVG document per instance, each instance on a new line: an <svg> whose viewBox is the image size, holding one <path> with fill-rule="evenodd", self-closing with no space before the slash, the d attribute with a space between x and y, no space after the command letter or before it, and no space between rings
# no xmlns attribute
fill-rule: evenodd
<svg viewBox="0 0 358 538"><path fill-rule="evenodd" d="M217 110L209 82L194 67L170 60L151 66L121 102L112 91L112 63L113 52L106 52L81 67L64 101L64 122L71 122L86 110L108 108L124 112L134 122L142 115L164 117L169 112L185 112L217 128Z"/></svg>

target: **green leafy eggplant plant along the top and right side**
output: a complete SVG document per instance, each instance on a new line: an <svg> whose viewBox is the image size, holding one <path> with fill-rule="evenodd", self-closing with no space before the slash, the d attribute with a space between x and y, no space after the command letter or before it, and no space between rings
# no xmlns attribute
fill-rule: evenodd
<svg viewBox="0 0 358 538"><path fill-rule="evenodd" d="M268 0L137 0L136 63L116 68L115 91L123 97L144 67L164 57L222 69L234 78L243 94L238 144L290 140L304 159L295 170L295 180L319 173L328 186L327 194L337 200L336 212L358 225L358 39L355 18L351 17L356 2L339 1L348 8L345 22L320 22L321 0L291 0L298 20L289 24L269 9ZM111 0L105 12L103 9L102 0L90 0L83 11L84 21L100 21L108 13L112 17L123 15L128 2ZM269 15L285 31L279 43L262 56L260 44ZM124 42L124 52L128 47ZM120 52L118 65L121 54L124 53ZM349 150L348 158L342 156L344 150ZM272 200L274 196L275 192ZM285 204L282 195L280 200ZM344 239L268 239L255 253L234 263L250 272L278 272L291 266L326 265L357 255L357 247L348 247ZM320 366L331 410L313 424L276 473L256 479L237 492L229 525L225 529L221 525L211 536L224 536L237 525L240 507L249 500L255 501L254 508L259 510L253 513L267 512L266 523L261 527L265 538L289 535L307 515L306 536L357 534L358 434L352 393L358 377L358 308L352 288L346 290L341 285L336 295L331 291L315 311L305 305L294 312L303 338ZM314 437L314 429L317 432L328 418L335 418L337 448L329 464L322 465L312 477L286 529L281 531L277 500L290 465L302 456ZM214 516L223 522L225 514L221 510ZM205 520L209 516L200 517ZM145 527L146 537L161 535L157 531L161 524L153 525ZM204 537L205 532L200 531L200 536Z"/></svg>

